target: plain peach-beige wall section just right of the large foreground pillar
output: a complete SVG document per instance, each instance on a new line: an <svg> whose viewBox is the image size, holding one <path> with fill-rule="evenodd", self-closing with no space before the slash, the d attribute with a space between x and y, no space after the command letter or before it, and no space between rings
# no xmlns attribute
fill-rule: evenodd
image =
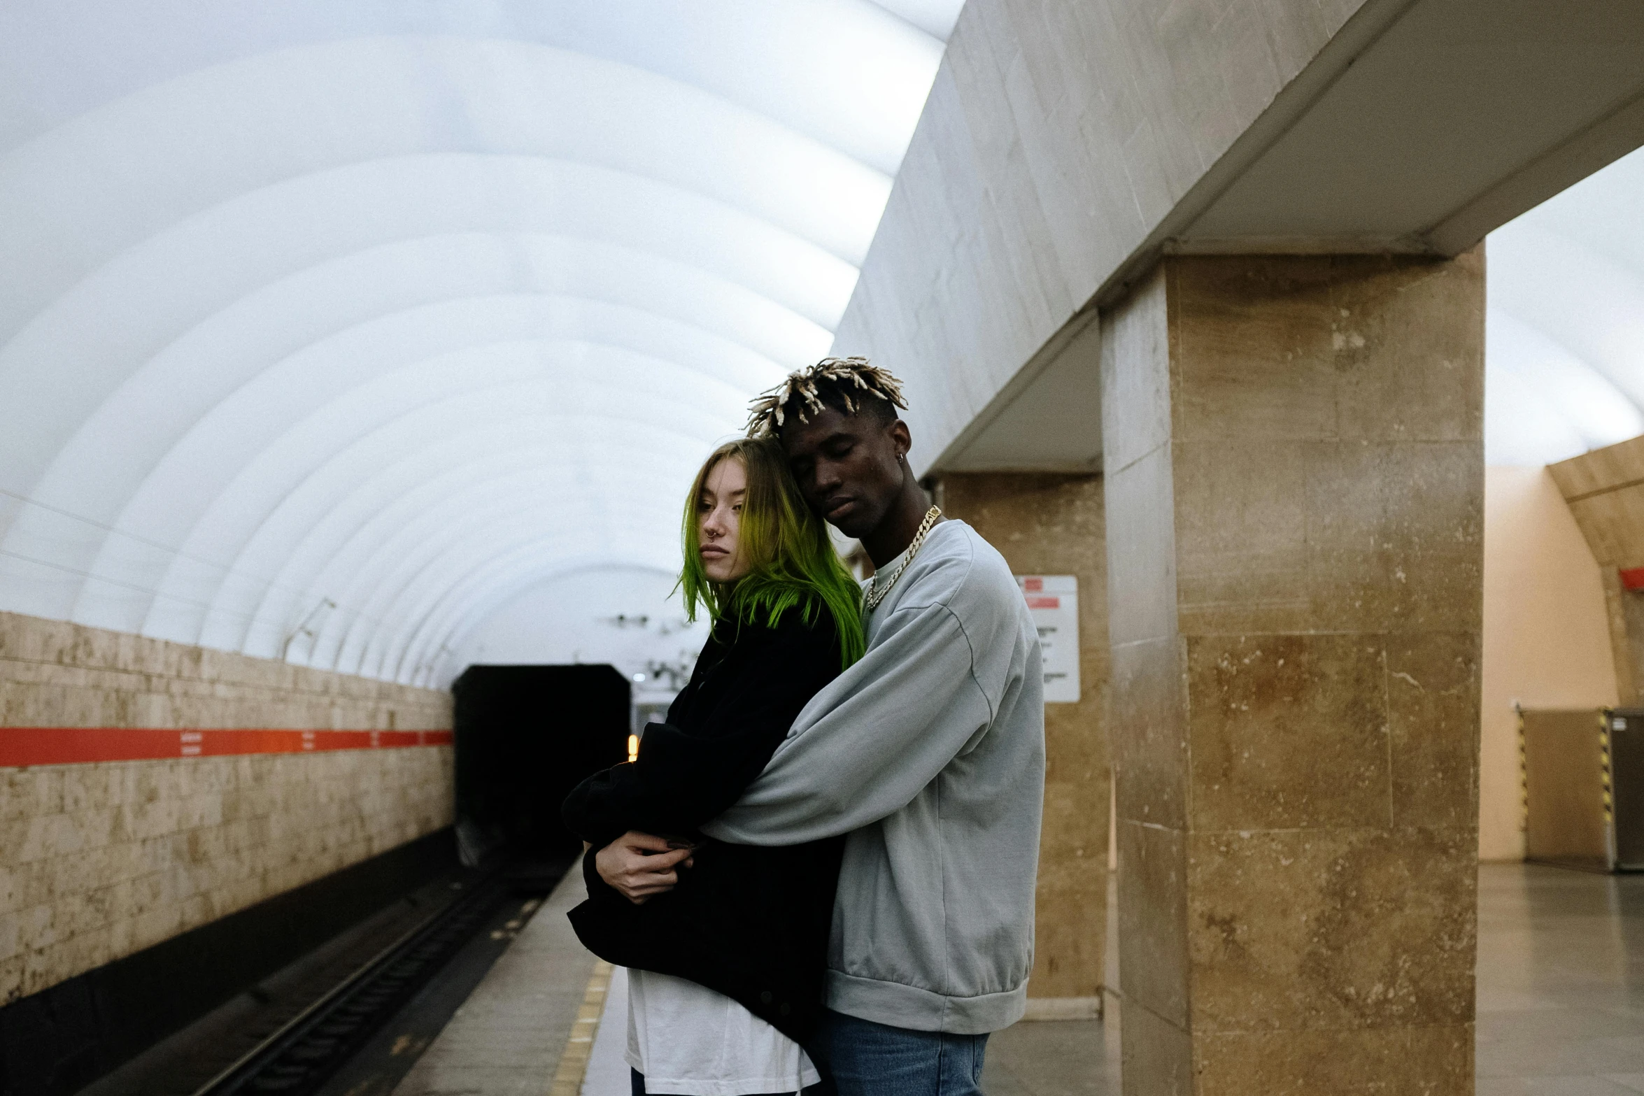
<svg viewBox="0 0 1644 1096"><path fill-rule="evenodd" d="M1524 859L1512 705L1616 703L1600 569L1542 467L1485 470L1483 651L1478 854Z"/></svg>

